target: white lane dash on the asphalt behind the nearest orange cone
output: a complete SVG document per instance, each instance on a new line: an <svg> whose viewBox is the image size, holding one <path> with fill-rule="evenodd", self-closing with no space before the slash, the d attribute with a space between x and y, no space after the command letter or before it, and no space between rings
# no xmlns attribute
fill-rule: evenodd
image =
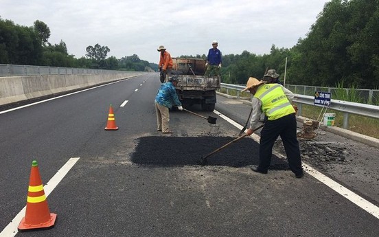
<svg viewBox="0 0 379 237"><path fill-rule="evenodd" d="M80 159L80 157L73 157L69 159L56 174L54 174L54 177L52 177L49 182L46 183L46 185L43 186L43 191L45 192L45 196L49 196L49 194L56 188L58 183L62 181L62 179L66 176L66 174L71 170L71 168L75 165L75 163ZM26 206L23 207L23 209L19 212L19 214L16 214L16 216L13 218L13 220L3 229L3 231L0 233L1 237L13 237L16 236L16 234L19 232L17 227L19 227L19 224L22 220L22 218L25 216Z"/></svg>

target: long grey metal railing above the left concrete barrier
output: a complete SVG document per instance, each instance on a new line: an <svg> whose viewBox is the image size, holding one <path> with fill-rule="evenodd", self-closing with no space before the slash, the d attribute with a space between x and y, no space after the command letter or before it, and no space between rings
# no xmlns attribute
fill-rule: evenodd
<svg viewBox="0 0 379 237"><path fill-rule="evenodd" d="M120 72L122 71L75 67L48 67L33 65L0 64L0 77L38 75L119 74Z"/></svg>

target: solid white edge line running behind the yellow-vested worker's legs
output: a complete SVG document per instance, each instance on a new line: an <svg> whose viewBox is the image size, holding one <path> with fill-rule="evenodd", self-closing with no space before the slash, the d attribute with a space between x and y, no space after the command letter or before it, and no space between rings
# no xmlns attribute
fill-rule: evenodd
<svg viewBox="0 0 379 237"><path fill-rule="evenodd" d="M241 126L237 122L234 122L233 120L231 120L229 117L223 115L222 113L220 113L216 110L214 111L214 113L216 113L216 115L222 117L224 120L226 120L227 122L229 122L233 126L236 126L238 129L243 128L243 126ZM253 135L251 135L251 136L253 136L253 139L259 143L259 141L260 141L259 135L255 135L253 133ZM257 139L255 139L255 138L257 138ZM345 197L347 200L351 201L355 205L358 205L358 207L362 208L363 210L365 210L369 214L371 214L371 215L373 215L379 219L379 207L378 206L374 205L373 203L370 203L366 199L363 199L363 197L361 197L358 194L355 194L354 192L352 192L351 190L343 187L343 185L337 183L336 181L326 177L321 172L314 170L314 168L312 168L311 166L309 166L308 164L306 164L304 162L303 162L303 166L306 168L306 170L304 170L304 171L307 172L308 174L310 174L312 177L318 179L319 181L321 181L321 183L327 185L329 188L336 191L338 194L341 194L341 196Z"/></svg>

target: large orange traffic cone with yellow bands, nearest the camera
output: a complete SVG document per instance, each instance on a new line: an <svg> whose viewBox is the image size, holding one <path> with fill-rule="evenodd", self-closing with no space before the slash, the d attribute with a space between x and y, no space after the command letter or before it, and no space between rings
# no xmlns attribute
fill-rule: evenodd
<svg viewBox="0 0 379 237"><path fill-rule="evenodd" d="M19 224L19 231L54 227L56 214L50 213L45 191L38 170L37 161L32 162L29 189L27 190L25 217Z"/></svg>

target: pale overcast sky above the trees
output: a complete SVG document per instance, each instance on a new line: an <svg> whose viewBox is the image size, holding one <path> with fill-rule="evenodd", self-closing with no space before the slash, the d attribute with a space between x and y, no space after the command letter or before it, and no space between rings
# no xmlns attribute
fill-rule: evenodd
<svg viewBox="0 0 379 237"><path fill-rule="evenodd" d="M0 0L0 17L17 25L47 24L51 44L63 41L80 58L100 44L108 56L137 54L159 62L159 45L172 57L207 54L218 41L223 55L269 54L306 38L325 0Z"/></svg>

